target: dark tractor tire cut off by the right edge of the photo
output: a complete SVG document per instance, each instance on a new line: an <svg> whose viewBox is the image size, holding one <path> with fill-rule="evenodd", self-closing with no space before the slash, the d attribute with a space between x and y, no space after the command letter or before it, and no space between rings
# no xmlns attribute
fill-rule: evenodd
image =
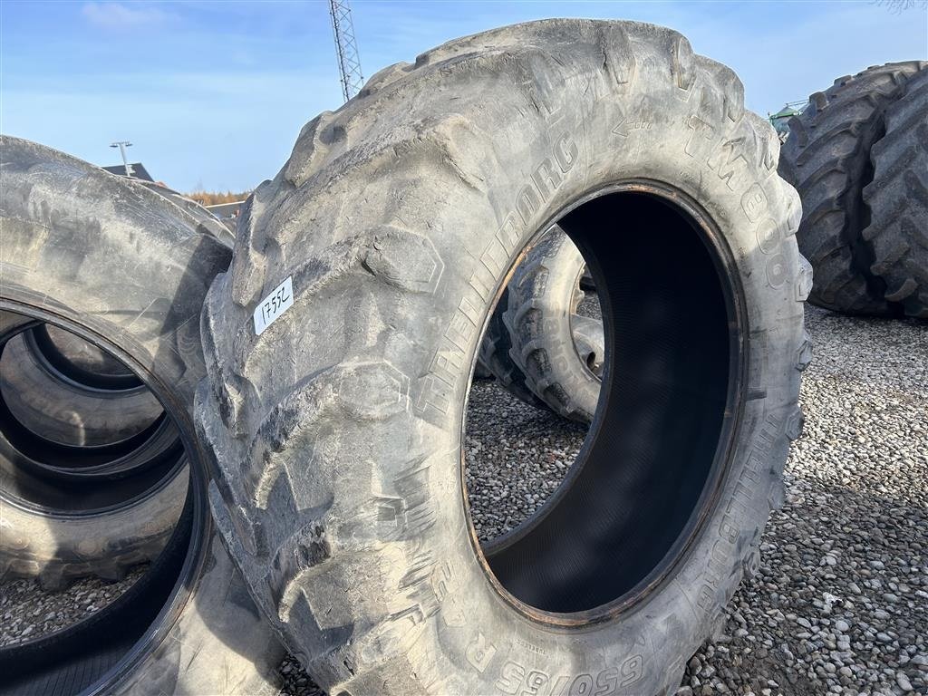
<svg viewBox="0 0 928 696"><path fill-rule="evenodd" d="M873 181L864 188L870 270L886 300L928 319L928 68L909 79L886 110L886 135L870 150Z"/></svg>

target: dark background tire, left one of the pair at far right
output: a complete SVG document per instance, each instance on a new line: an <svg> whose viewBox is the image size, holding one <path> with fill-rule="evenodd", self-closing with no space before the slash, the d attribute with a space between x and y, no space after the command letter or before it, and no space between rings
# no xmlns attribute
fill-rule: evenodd
<svg viewBox="0 0 928 696"><path fill-rule="evenodd" d="M885 298L885 282L870 270L863 189L873 176L870 148L885 131L884 112L925 65L887 63L838 78L790 119L780 175L803 201L796 239L815 269L811 303L852 315L898 314L898 305Z"/></svg>

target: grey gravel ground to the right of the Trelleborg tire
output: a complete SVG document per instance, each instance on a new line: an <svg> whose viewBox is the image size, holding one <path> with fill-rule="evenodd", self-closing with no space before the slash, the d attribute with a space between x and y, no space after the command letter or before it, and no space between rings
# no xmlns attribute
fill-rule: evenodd
<svg viewBox="0 0 928 696"><path fill-rule="evenodd" d="M928 327L808 306L804 437L679 696L928 693Z"/></svg>

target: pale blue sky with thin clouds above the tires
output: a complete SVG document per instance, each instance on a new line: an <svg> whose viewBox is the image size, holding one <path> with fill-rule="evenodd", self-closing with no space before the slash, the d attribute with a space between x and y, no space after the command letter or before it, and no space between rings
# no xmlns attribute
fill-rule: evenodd
<svg viewBox="0 0 928 696"><path fill-rule="evenodd" d="M778 110L840 75L928 58L914 2L362 2L365 77L433 45L546 17L677 29ZM902 6L909 6L902 9ZM0 131L114 164L110 142L180 190L249 189L277 173L300 127L342 103L328 3L0 0Z"/></svg>

